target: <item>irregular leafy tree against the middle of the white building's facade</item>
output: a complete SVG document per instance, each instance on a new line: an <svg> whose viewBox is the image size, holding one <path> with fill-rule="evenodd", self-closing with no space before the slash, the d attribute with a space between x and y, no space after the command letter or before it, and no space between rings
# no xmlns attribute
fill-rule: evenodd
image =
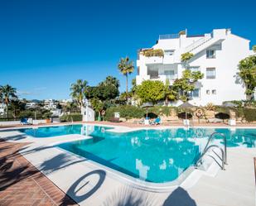
<svg viewBox="0 0 256 206"><path fill-rule="evenodd" d="M181 101L186 102L189 94L195 89L195 83L202 79L204 74L200 71L191 72L190 69L185 69L182 73L181 79L176 79L172 85L172 89L179 93Z"/></svg>

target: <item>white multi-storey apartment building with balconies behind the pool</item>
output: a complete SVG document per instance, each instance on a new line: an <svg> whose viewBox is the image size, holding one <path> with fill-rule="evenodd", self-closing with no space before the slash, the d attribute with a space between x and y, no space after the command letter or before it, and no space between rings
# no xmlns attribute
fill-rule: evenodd
<svg viewBox="0 0 256 206"><path fill-rule="evenodd" d="M164 56L146 57L143 50L161 49ZM245 99L244 85L236 77L239 60L253 55L249 49L249 40L231 33L230 29L215 29L200 36L161 35L155 46L138 52L138 75L136 83L143 80L169 79L170 84L181 78L185 65L181 54L190 52L194 56L189 61L188 69L199 70L204 78L196 83L191 93L190 103L205 105L222 104L224 101ZM180 102L175 103L175 105Z"/></svg>

